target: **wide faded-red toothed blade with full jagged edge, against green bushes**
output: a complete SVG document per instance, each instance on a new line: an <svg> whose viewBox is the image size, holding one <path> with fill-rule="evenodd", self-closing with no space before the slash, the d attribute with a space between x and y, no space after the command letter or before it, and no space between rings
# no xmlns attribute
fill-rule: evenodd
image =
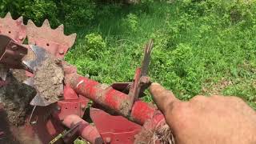
<svg viewBox="0 0 256 144"><path fill-rule="evenodd" d="M35 26L34 22L29 20L26 29L29 44L43 47L58 58L64 58L76 38L76 34L65 35L63 25L55 30L51 29L47 19L41 27Z"/></svg>

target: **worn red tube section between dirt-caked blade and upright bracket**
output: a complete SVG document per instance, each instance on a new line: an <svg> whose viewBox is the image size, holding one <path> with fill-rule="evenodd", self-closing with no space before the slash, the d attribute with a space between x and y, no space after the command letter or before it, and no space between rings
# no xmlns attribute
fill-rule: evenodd
<svg viewBox="0 0 256 144"><path fill-rule="evenodd" d="M123 94L118 90L114 90L111 86L104 86L89 78L79 76L78 74L70 74L67 77L69 77L66 78L67 84L78 94L84 95L86 98L90 98L106 108L115 110L119 114L124 116L129 115L130 98L127 94Z"/></svg>

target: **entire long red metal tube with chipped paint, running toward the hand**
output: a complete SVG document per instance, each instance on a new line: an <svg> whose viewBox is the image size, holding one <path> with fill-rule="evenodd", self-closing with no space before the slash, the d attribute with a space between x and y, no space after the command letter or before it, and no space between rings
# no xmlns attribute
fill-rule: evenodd
<svg viewBox="0 0 256 144"><path fill-rule="evenodd" d="M111 86L102 88L100 83L90 80L89 78L82 77L79 74L68 75L66 77L66 83L69 84L78 94L92 99L101 106L114 110L126 118L131 118L131 120L140 125L143 125L147 120L154 118L158 114L162 115L155 106L150 106L149 103L139 100L134 102L131 111L128 111L127 113L126 110L123 110L125 108L123 106L130 106L131 103L127 103L130 102L129 95L123 94L118 90L114 90ZM164 118L163 115L161 117Z"/></svg>

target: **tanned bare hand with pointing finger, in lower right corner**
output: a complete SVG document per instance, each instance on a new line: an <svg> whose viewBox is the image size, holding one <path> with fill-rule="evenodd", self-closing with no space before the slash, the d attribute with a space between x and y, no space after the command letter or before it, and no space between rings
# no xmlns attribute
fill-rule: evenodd
<svg viewBox="0 0 256 144"><path fill-rule="evenodd" d="M158 83L150 93L177 144L256 144L256 112L241 98L198 95L182 102Z"/></svg>

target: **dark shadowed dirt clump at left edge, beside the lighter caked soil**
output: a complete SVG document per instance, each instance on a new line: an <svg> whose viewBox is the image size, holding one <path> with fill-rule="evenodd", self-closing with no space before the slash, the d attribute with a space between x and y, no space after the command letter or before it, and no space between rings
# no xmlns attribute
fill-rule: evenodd
<svg viewBox="0 0 256 144"><path fill-rule="evenodd" d="M8 121L14 126L25 123L26 114L30 110L30 101L34 98L34 88L19 82L13 74L8 74L6 86L0 87L0 102L7 114Z"/></svg>

